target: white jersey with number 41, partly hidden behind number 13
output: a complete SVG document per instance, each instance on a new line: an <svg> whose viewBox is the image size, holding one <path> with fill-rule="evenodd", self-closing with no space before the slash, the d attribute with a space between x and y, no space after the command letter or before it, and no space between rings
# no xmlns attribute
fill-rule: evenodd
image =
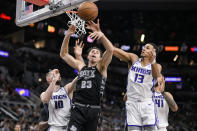
<svg viewBox="0 0 197 131"><path fill-rule="evenodd" d="M168 126L168 113L169 106L165 98L161 93L155 92L154 94L155 106L157 109L157 126L167 127Z"/></svg>

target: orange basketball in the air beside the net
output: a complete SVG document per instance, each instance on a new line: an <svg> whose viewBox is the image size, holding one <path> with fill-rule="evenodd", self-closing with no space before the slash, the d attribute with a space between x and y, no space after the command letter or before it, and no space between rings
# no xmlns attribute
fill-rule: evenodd
<svg viewBox="0 0 197 131"><path fill-rule="evenodd" d="M98 16L98 7L93 2L83 2L78 8L78 16L84 21L95 20Z"/></svg>

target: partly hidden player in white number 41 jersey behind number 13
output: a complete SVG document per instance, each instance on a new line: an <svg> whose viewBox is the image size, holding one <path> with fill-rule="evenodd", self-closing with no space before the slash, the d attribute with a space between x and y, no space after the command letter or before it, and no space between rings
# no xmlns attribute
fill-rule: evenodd
<svg viewBox="0 0 197 131"><path fill-rule="evenodd" d="M173 112L178 110L178 106L173 99L173 96L169 92L165 92L165 80L162 77L162 84L159 87L156 85L154 101L157 107L157 130L158 131L167 131L166 127L168 126L168 113L169 107Z"/></svg>

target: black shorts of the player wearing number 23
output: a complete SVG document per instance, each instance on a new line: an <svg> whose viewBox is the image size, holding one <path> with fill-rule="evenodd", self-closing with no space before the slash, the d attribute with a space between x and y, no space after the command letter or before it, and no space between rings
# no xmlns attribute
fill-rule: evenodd
<svg viewBox="0 0 197 131"><path fill-rule="evenodd" d="M99 108L72 106L68 131L96 131L99 115Z"/></svg>

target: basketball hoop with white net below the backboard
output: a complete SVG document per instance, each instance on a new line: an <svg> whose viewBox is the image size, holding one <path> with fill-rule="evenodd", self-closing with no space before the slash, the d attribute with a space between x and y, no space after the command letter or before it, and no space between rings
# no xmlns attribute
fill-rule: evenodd
<svg viewBox="0 0 197 131"><path fill-rule="evenodd" d="M70 18L70 21L68 21L68 26L74 25L76 27L76 34L78 36L86 34L85 30L85 21L82 20L78 15L77 11L66 11L66 14Z"/></svg>

